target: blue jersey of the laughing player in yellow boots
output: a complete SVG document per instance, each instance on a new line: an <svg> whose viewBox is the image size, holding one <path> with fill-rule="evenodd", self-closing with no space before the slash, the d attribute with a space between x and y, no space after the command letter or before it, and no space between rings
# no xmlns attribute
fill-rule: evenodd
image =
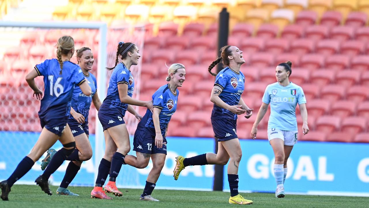
<svg viewBox="0 0 369 208"><path fill-rule="evenodd" d="M217 77L215 77L214 86L218 86L223 89L219 97L224 101L224 103L228 105L238 105L239 100L241 99L241 94L245 89L245 76L241 71L237 73L230 67L225 67L218 73ZM215 120L221 118L236 120L237 114L214 104L211 119Z"/></svg>

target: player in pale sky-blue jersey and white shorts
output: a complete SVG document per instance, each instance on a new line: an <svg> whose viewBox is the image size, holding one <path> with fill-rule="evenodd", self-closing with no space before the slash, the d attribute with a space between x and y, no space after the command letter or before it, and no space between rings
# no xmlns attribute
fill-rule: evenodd
<svg viewBox="0 0 369 208"><path fill-rule="evenodd" d="M258 124L268 110L270 103L270 117L268 121L268 140L273 148L274 176L277 182L275 196L284 197L284 180L287 175L287 160L293 145L297 142L296 105L299 104L303 120L303 134L309 132L307 125L306 98L299 85L289 81L292 63L280 63L276 67L277 82L269 84L263 95L262 104L251 130L251 138L256 138Z"/></svg>

